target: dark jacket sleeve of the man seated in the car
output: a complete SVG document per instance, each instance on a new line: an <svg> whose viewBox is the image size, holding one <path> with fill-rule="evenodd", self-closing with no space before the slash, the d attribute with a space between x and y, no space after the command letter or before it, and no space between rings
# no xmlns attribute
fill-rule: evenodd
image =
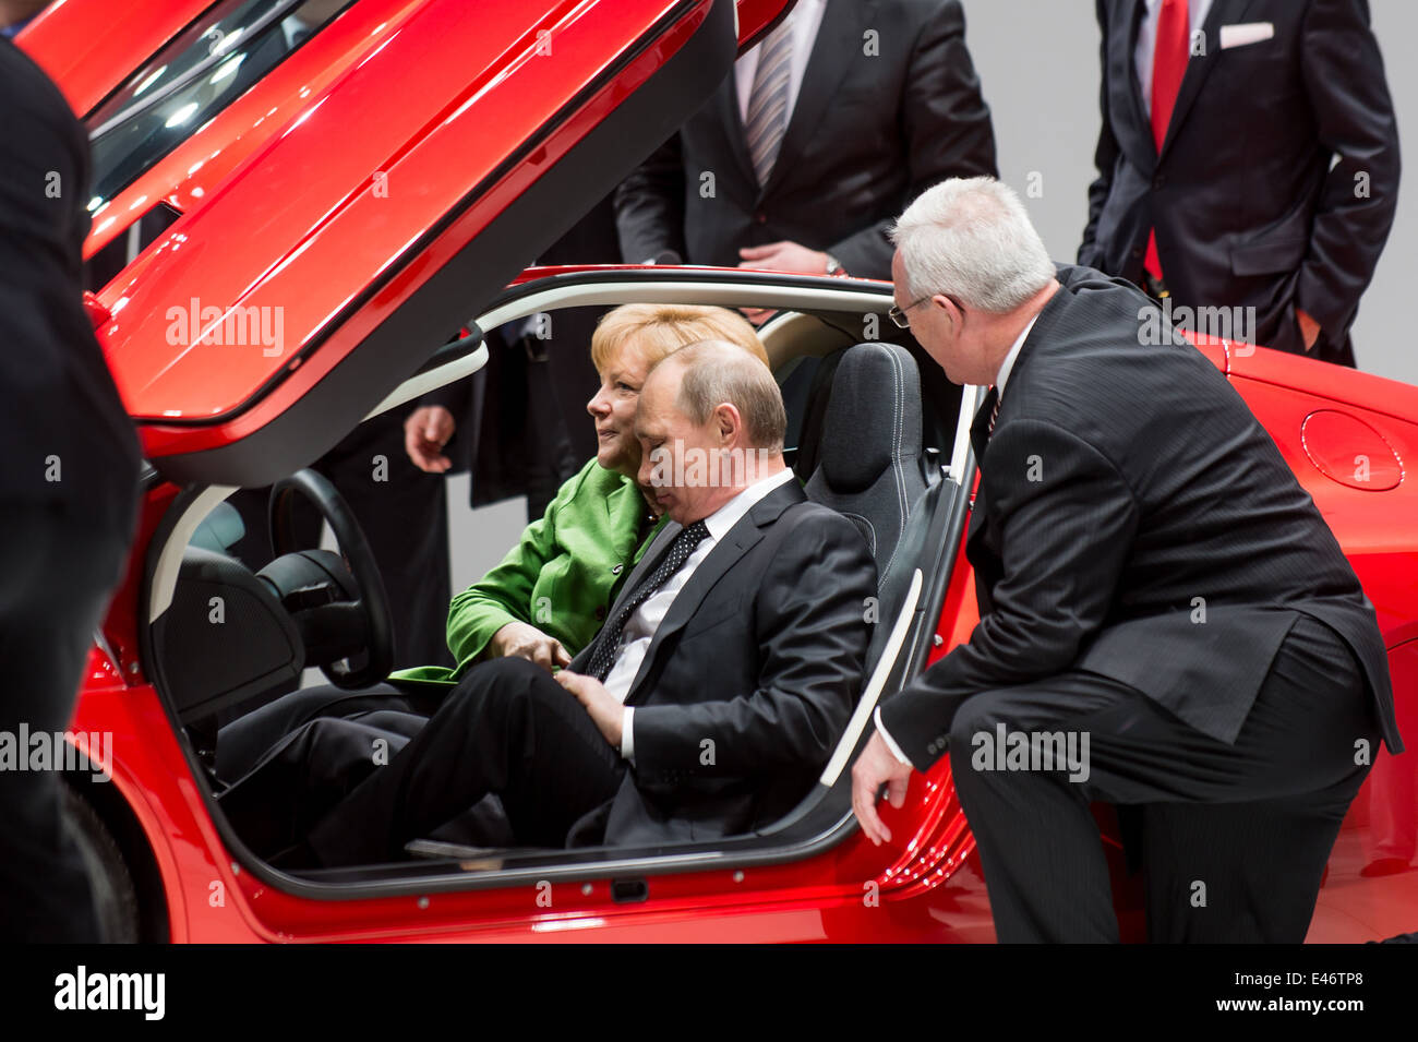
<svg viewBox="0 0 1418 1042"><path fill-rule="evenodd" d="M820 515L798 525L753 605L759 686L716 702L638 706L637 777L652 783L666 771L682 785L696 775L718 781L825 764L861 695L866 598L875 593L876 566L851 522Z"/></svg>

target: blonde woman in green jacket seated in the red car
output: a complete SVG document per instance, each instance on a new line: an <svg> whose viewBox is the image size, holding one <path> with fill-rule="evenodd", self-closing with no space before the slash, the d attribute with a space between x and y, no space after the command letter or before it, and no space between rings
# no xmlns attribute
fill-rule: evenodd
<svg viewBox="0 0 1418 1042"><path fill-rule="evenodd" d="M401 669L389 683L363 690L322 686L285 695L221 729L218 775L241 777L284 736L316 716L379 713L379 723L391 719L384 710L428 716L478 662L516 655L546 669L567 665L600 631L621 584L662 523L635 483L640 388L661 359L708 339L729 340L769 362L753 326L723 308L630 303L607 312L591 337L601 386L586 405L596 422L596 458L562 485L546 513L527 525L501 564L452 598L448 649L458 665ZM448 424L451 437L451 417ZM411 455L424 469L445 469L431 455L423 462Z"/></svg>

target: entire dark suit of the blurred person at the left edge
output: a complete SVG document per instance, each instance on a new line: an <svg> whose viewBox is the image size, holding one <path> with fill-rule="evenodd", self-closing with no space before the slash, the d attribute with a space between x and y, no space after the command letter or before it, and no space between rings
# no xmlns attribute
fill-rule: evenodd
<svg viewBox="0 0 1418 1042"><path fill-rule="evenodd" d="M82 306L84 129L0 40L0 733L62 732L122 577L138 441ZM30 750L20 750L28 756ZM0 770L0 940L99 940L52 770Z"/></svg>

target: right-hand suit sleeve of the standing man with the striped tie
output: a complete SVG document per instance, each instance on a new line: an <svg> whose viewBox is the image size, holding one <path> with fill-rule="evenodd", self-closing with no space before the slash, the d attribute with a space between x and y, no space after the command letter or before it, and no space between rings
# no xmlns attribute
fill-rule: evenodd
<svg viewBox="0 0 1418 1042"><path fill-rule="evenodd" d="M908 58L902 98L902 156L910 166L906 203L947 177L998 177L990 106L966 47L966 16L956 0L939 6ZM891 278L892 220L828 247L852 275Z"/></svg>

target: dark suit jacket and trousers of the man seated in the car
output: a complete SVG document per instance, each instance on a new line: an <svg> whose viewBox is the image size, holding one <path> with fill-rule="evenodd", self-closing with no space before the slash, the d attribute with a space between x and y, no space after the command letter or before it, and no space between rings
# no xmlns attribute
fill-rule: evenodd
<svg viewBox="0 0 1418 1042"><path fill-rule="evenodd" d="M617 605L676 532L665 527ZM807 794L847 726L866 652L862 604L875 590L856 529L788 482L725 533L655 631L625 702L632 767L546 671L498 659L471 671L309 845L325 865L398 856L488 791L519 842L537 846L767 825ZM571 669L584 672L594 652L593 642Z"/></svg>

